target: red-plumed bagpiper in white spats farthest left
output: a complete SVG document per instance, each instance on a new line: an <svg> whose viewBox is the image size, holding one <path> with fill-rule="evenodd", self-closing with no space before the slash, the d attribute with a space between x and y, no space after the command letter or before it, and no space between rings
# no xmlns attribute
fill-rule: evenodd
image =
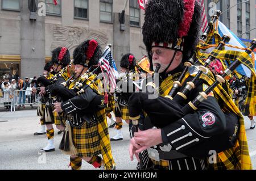
<svg viewBox="0 0 256 181"><path fill-rule="evenodd" d="M54 129L53 124L56 125L57 129L60 131L64 131L65 122L62 119L61 115L58 115L56 112L53 112L53 98L51 98L51 91L54 87L58 87L61 83L67 81L69 78L67 66L70 63L70 54L67 47L58 47L52 50L52 74L53 77L51 79L46 79L45 77L39 77L38 83L42 83L44 86L40 87L40 92L44 97L48 98L46 103L46 107L44 108L43 113L43 122L46 124L46 134L48 139L48 144L46 147L41 149L42 151L55 151L55 146L53 144L54 140ZM64 71L65 70L65 71Z"/></svg>

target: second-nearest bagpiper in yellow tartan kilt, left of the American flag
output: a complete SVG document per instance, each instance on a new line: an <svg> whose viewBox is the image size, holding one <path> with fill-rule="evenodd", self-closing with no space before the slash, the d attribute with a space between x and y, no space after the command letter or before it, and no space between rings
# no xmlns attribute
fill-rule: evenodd
<svg viewBox="0 0 256 181"><path fill-rule="evenodd" d="M63 112L67 123L60 149L71 155L73 170L81 168L82 159L95 168L115 169L105 96L100 91L100 79L97 79L101 70L98 65L101 54L96 40L82 42L73 52L76 80L68 89L64 86L55 89L57 96L63 100L55 103L55 111ZM88 69L90 71L86 72Z"/></svg>

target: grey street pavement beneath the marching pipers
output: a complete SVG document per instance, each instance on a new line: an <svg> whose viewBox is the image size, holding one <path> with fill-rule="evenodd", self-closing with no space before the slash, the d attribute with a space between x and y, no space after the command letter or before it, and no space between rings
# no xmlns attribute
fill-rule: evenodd
<svg viewBox="0 0 256 181"><path fill-rule="evenodd" d="M256 119L256 117L254 117ZM40 118L36 110L22 110L15 112L0 112L0 170L28 169L28 170L67 170L69 155L64 155L58 149L62 135L57 134L55 128L55 151L40 153L47 145L46 135L34 136L40 127ZM108 119L108 124L110 120ZM250 129L250 121L245 117L245 128L253 168L256 169L256 128ZM123 141L111 142L112 153L116 162L116 169L135 170L137 162L129 158L129 127L123 121ZM115 135L115 129L109 128L110 137ZM93 169L91 165L82 162L82 169Z"/></svg>

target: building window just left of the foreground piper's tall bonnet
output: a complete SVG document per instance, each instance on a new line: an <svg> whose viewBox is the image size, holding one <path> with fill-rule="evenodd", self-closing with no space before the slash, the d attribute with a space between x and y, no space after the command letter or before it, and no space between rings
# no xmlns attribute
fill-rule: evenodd
<svg viewBox="0 0 256 181"><path fill-rule="evenodd" d="M140 9L137 0L130 0L130 25L139 26Z"/></svg>

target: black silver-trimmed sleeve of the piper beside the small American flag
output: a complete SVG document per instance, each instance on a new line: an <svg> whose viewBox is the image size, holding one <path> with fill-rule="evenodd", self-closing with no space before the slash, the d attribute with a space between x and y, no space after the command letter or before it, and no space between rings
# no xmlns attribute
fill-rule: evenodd
<svg viewBox="0 0 256 181"><path fill-rule="evenodd" d="M61 103L61 109L67 113L75 113L80 110L88 108L90 102L96 97L96 93L88 87L84 94L77 95L63 103Z"/></svg>

